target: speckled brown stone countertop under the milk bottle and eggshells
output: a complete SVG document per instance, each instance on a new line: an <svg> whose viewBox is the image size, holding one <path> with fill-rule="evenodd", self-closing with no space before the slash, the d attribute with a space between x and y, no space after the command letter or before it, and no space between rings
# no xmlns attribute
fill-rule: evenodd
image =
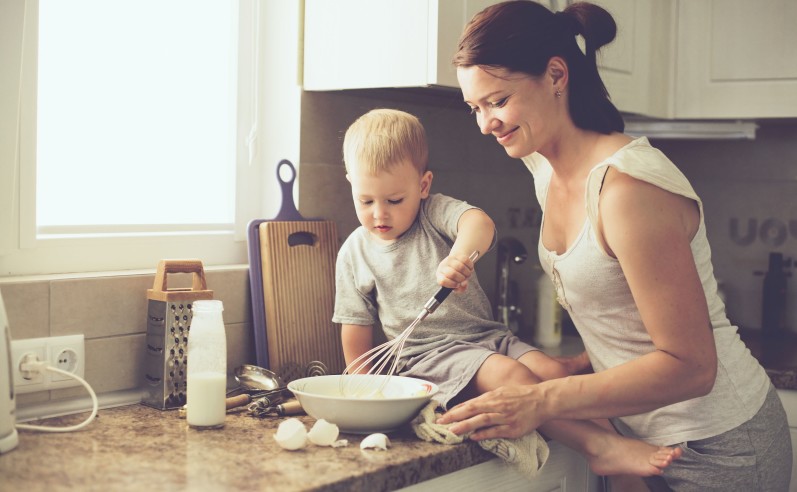
<svg viewBox="0 0 797 492"><path fill-rule="evenodd" d="M87 414L45 421L73 425ZM314 419L301 416L309 429ZM230 411L222 430L188 427L176 411L143 405L100 410L70 433L20 431L0 455L0 490L395 490L487 461L475 443L421 441L411 429L390 433L387 451L360 450L363 436L341 434L342 448L285 451L273 439L282 418Z"/></svg>

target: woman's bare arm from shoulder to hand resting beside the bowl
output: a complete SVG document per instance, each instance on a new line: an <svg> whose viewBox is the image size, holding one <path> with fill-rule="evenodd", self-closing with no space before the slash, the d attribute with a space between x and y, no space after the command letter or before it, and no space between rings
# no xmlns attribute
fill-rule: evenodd
<svg viewBox="0 0 797 492"><path fill-rule="evenodd" d="M717 370L705 294L690 242L696 204L621 173L610 173L599 227L623 269L655 350L597 374L499 388L445 414L462 434L516 437L552 419L648 412L711 391Z"/></svg>

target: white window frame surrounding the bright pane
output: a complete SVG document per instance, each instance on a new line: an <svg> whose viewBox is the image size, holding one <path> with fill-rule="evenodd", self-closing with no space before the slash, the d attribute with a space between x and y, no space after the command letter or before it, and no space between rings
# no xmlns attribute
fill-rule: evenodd
<svg viewBox="0 0 797 492"><path fill-rule="evenodd" d="M0 92L10 88L0 95L0 133L10 130L5 133L10 138L0 141L0 277L149 270L163 258L199 258L206 266L246 264L247 224L279 209L277 163L289 159L299 167L302 3L239 0L234 230L187 227L143 234L119 227L102 234L37 237L38 0L3 0L0 29L16 32L19 46L0 47L0 63L13 72L0 75Z"/></svg>

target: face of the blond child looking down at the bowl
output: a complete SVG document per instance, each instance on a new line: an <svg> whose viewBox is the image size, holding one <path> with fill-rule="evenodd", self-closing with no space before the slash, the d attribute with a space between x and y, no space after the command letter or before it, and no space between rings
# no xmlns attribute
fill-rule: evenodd
<svg viewBox="0 0 797 492"><path fill-rule="evenodd" d="M395 241L412 226L421 199L429 196L432 173L426 171L421 176L408 161L376 176L360 171L361 167L346 176L357 218L375 239Z"/></svg>

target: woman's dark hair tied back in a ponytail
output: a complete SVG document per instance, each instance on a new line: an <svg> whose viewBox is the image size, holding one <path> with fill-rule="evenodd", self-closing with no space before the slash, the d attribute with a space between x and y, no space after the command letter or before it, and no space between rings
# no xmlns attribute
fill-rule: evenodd
<svg viewBox="0 0 797 492"><path fill-rule="evenodd" d="M585 53L576 35L585 40ZM465 26L453 63L504 68L539 77L551 57L560 56L570 71L569 110L575 125L600 133L622 132L623 117L609 100L595 53L617 34L611 14L597 5L578 2L553 13L529 0L487 7Z"/></svg>

